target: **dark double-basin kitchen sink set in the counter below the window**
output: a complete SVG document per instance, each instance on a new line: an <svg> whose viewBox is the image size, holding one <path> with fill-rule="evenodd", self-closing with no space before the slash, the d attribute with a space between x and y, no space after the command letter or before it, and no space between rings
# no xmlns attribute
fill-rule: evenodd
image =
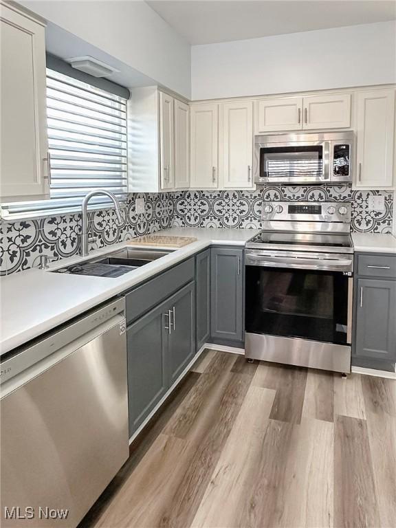
<svg viewBox="0 0 396 528"><path fill-rule="evenodd" d="M137 267L161 259L174 250L135 250L124 248L120 251L112 252L105 256L98 256L82 263L72 264L67 267L60 267L53 270L54 273L65 273L72 275L90 275L96 277L119 277Z"/></svg>

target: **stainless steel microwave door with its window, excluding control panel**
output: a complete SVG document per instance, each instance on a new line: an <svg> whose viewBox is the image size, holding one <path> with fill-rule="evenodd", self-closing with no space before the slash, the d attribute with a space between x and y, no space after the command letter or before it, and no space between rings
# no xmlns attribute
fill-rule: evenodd
<svg viewBox="0 0 396 528"><path fill-rule="evenodd" d="M256 183L329 181L330 142L256 143Z"/></svg>

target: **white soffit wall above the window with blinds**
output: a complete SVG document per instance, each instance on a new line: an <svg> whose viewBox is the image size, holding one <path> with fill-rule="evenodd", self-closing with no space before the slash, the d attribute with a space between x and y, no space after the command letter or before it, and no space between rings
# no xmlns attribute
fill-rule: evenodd
<svg viewBox="0 0 396 528"><path fill-rule="evenodd" d="M34 1L19 3L190 98L190 45L144 1Z"/></svg>

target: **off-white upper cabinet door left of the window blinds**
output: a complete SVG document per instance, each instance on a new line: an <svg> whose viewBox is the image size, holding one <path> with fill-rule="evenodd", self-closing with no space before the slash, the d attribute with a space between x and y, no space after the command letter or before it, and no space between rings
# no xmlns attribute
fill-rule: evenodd
<svg viewBox="0 0 396 528"><path fill-rule="evenodd" d="M0 33L0 198L48 198L45 28L1 4Z"/></svg>

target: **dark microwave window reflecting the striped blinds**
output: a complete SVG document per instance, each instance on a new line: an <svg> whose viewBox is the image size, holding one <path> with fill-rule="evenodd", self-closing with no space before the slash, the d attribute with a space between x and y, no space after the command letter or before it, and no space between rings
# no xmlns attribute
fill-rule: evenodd
<svg viewBox="0 0 396 528"><path fill-rule="evenodd" d="M260 176L268 179L322 177L322 145L262 147Z"/></svg>

